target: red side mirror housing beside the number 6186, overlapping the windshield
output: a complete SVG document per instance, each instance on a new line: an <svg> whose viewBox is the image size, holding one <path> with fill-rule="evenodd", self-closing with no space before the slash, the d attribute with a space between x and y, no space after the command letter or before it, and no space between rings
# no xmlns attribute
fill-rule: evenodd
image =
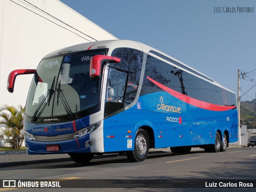
<svg viewBox="0 0 256 192"><path fill-rule="evenodd" d="M102 62L108 61L110 63L117 63L120 62L121 59L117 57L112 56L106 56L106 55L95 55L92 57L92 60L90 62L90 78L91 80L100 80L100 71Z"/></svg>

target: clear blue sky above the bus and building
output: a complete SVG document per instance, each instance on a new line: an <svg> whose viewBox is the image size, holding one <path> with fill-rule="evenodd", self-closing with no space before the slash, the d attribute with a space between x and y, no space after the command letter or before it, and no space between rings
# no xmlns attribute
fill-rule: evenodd
<svg viewBox="0 0 256 192"><path fill-rule="evenodd" d="M256 98L255 0L60 0L118 39L152 46Z"/></svg>

